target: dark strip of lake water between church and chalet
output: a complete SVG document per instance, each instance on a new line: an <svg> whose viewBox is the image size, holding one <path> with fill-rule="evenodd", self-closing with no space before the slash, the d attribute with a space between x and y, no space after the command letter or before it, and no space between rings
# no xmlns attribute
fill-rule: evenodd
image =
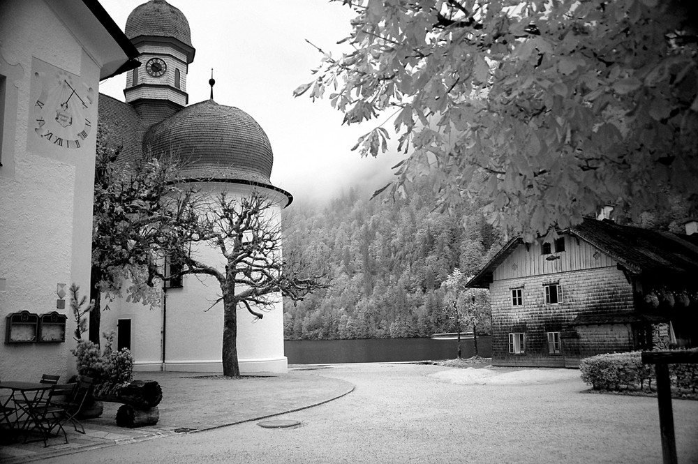
<svg viewBox="0 0 698 464"><path fill-rule="evenodd" d="M457 340L369 338L364 340L285 340L288 364L373 363L454 359ZM477 337L477 352L492 356L491 336ZM461 357L475 355L473 340L461 340Z"/></svg>

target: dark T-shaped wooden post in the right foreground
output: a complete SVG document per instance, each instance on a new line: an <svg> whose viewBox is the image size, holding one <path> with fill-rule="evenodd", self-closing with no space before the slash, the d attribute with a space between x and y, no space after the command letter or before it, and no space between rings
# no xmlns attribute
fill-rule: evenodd
<svg viewBox="0 0 698 464"><path fill-rule="evenodd" d="M678 464L676 437L674 435L674 410L671 407L671 380L669 364L697 364L696 351L644 351L642 364L654 364L657 374L657 401L659 403L659 428L662 434L664 464Z"/></svg>

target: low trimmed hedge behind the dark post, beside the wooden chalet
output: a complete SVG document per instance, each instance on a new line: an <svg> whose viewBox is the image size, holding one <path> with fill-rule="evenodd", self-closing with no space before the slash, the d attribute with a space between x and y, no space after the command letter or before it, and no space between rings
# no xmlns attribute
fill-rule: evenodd
<svg viewBox="0 0 698 464"><path fill-rule="evenodd" d="M653 364L642 364L641 352L598 354L579 364L581 380L595 390L652 391ZM678 392L695 394L698 390L698 364L669 364L671 386Z"/></svg>

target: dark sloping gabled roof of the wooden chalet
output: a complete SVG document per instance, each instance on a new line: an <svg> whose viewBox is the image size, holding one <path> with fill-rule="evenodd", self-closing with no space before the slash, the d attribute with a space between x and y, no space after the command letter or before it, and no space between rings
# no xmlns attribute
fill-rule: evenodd
<svg viewBox="0 0 698 464"><path fill-rule="evenodd" d="M610 220L585 218L563 230L606 253L630 274L653 276L698 275L698 234L691 236L619 225ZM520 237L510 240L470 279L468 287L487 288L493 272L523 244Z"/></svg>

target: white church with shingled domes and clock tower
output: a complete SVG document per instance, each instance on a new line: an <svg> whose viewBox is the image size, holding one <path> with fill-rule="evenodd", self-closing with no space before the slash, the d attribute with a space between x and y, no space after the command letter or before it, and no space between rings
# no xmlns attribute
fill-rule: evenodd
<svg viewBox="0 0 698 464"><path fill-rule="evenodd" d="M195 49L186 17L165 0L151 0L131 12L125 33L143 65L126 77L126 102L102 95L98 114L112 131L114 146L123 145L119 160L132 161L148 151L172 152L186 160L181 174L198 188L231 198L255 189L272 200L272 217L280 221L281 209L292 197L269 180L272 147L257 121L213 99L187 105L186 75ZM213 248L201 250L200 258L224 267L220 251ZM117 331L117 347L131 350L137 371L221 372L223 304L211 308L220 294L215 278L188 274L163 288L159 308L103 297L101 331ZM276 300L261 320L238 310L242 373L287 370L281 294Z"/></svg>

